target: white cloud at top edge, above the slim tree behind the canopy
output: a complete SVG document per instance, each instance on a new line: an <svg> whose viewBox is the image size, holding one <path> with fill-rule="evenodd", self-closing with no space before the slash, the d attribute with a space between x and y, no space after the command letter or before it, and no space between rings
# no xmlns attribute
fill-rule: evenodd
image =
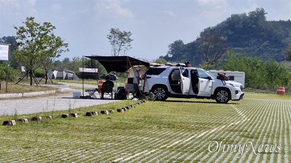
<svg viewBox="0 0 291 163"><path fill-rule="evenodd" d="M133 18L134 15L128 8L122 7L122 2L114 1L101 1L96 4L97 13L102 16L111 18Z"/></svg>

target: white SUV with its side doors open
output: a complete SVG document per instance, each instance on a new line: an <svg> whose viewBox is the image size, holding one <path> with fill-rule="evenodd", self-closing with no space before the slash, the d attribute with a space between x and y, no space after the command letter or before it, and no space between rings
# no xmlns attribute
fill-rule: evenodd
<svg viewBox="0 0 291 163"><path fill-rule="evenodd" d="M243 96L241 83L220 80L203 69L182 66L149 68L142 78L141 90L153 92L158 101L168 97L206 98L226 104Z"/></svg>

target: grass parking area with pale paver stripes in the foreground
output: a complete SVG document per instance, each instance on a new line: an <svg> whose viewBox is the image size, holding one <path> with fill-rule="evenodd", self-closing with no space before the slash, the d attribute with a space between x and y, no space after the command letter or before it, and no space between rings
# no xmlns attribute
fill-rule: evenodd
<svg viewBox="0 0 291 163"><path fill-rule="evenodd" d="M229 104L169 98L117 113L116 109L138 102L124 100L74 110L2 116L1 121L47 115L55 118L0 126L0 162L289 162L291 102L284 100L291 100L290 96L246 92L244 98ZM115 112L85 116L88 111L101 110ZM61 118L69 112L80 117ZM227 147L231 145L237 146L230 150Z"/></svg>

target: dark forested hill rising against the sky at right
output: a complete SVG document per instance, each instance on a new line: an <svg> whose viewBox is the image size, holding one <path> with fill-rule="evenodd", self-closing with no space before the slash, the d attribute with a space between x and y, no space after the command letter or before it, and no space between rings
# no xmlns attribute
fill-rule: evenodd
<svg viewBox="0 0 291 163"><path fill-rule="evenodd" d="M236 52L260 56L262 59L272 56L278 62L283 61L283 49L291 44L291 21L267 21L266 15L267 12L263 8L257 8L248 14L233 14L222 23L202 31L200 36L205 33L218 34L224 37L226 44ZM173 51L171 48L175 43L177 44L178 41L169 45L168 54L162 58L177 60L175 58L179 56L171 54ZM182 41L179 40L179 47L183 49L176 48L180 52L175 51L176 54L187 56L187 58L199 56L196 49L197 40L184 45L181 43ZM199 62L201 63L201 60Z"/></svg>

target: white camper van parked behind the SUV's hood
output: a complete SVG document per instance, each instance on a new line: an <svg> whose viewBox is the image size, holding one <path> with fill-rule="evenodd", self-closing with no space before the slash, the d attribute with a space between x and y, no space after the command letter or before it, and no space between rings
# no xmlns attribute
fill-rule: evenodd
<svg viewBox="0 0 291 163"><path fill-rule="evenodd" d="M210 70L208 71L210 74L213 74L214 76L217 76L217 73L223 72L229 75L229 80L233 80L236 82L239 82L242 84L242 87L244 87L244 72L240 71L223 71L223 70Z"/></svg>

